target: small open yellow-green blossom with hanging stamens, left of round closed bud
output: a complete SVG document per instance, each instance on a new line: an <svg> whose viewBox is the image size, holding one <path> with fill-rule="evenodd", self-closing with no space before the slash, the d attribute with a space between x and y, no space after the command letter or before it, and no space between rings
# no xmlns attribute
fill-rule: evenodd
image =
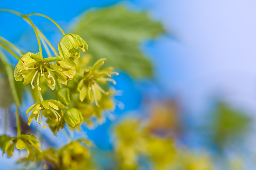
<svg viewBox="0 0 256 170"><path fill-rule="evenodd" d="M27 115L29 112L31 112L33 110L32 113L30 114L29 118L28 118L28 125L30 126L30 123L31 123L31 121L34 117L35 117L35 119L37 120L37 122L39 124L41 124L41 122L42 122L42 125L43 125L43 113L41 114L41 122L38 121L41 110L43 110L43 111L44 110L50 110L56 117L55 121L56 122L60 121L61 116L56 111L56 110L59 110L59 109L67 110L68 107L64 106L63 104L61 104L57 100L44 100L44 101L41 101L40 103L33 104L30 108L28 108L28 110L26 112L26 115ZM45 116L45 117L48 117L48 116ZM43 125L43 127L46 128L45 125Z"/></svg>

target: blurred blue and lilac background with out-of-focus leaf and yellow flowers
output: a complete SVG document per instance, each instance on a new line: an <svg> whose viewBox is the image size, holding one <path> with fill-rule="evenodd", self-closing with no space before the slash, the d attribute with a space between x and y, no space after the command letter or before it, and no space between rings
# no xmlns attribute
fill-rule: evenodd
<svg viewBox="0 0 256 170"><path fill-rule="evenodd" d="M107 58L120 73L116 109L72 134L95 143L97 169L255 169L255 1L2 1L0 8L51 17L87 42L94 61ZM31 19L57 47L58 28ZM0 35L38 52L22 19L1 13L0 23ZM25 101L24 117L33 103ZM38 131L53 147L68 142L62 132ZM17 158L1 157L0 169L20 168Z"/></svg>

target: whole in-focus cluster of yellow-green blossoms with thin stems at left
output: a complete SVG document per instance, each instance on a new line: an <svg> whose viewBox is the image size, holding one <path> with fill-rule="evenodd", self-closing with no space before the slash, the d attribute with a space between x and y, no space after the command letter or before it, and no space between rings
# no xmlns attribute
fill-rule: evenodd
<svg viewBox="0 0 256 170"><path fill-rule="evenodd" d="M106 59L96 61L92 67L87 65L88 62L83 62L83 60L89 60L91 56L81 55L81 52L88 52L88 45L79 35L65 34L55 21L43 14L31 13L23 15L7 9L1 9L0 11L11 12L22 17L33 27L37 37L39 52L36 54L27 52L26 54L22 54L21 57L11 50L19 51L18 48L0 37L0 46L18 59L18 63L13 69L14 80L23 81L24 85L30 85L31 89L26 89L26 91L29 91L36 101L26 111L26 115L30 113L27 118L27 124L29 126L32 120L35 119L39 124L42 124L43 128L47 128L48 126L56 135L59 130L64 128L65 124L71 130L75 128L79 129L79 126L83 122L92 125L92 117L101 118L105 110L114 109L113 95L115 93L109 90L110 88L107 82L116 84L110 77L112 74L118 75L118 73L114 72L112 67L102 68ZM61 30L63 37L58 44L58 52L33 24L29 18L31 15L46 17ZM43 45L48 57L43 57L41 42L44 42ZM54 57L51 56L48 46L52 49ZM55 96L52 95L53 92ZM16 94L13 95L15 97ZM21 134L19 121L20 103L15 102L15 105L17 107L17 136L12 138L7 135L1 136L0 147L3 149L3 154L7 152L8 156L12 156L16 145L16 148L19 150L25 148L27 150L27 156L21 159L22 161L34 161L36 157L37 163L46 162L46 164L53 164L58 168L60 168L59 166L65 165L66 161L64 159L71 159L67 156L67 150L71 147L80 148L78 150L83 150L83 152L78 151L79 154L81 153L89 157L90 154L84 144L79 144L81 141L73 141L69 146L64 146L58 152L54 153L41 150L40 143L35 136ZM83 143L85 141L82 140ZM86 141L85 145L87 144L89 143ZM68 154L71 156L71 154L76 154L76 152L74 151ZM64 164L53 163L51 160L58 159L56 156L62 157ZM63 169L65 168L63 167Z"/></svg>

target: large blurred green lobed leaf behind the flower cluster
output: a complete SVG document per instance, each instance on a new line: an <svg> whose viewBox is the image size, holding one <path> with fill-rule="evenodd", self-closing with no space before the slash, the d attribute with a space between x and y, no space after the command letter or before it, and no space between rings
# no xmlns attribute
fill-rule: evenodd
<svg viewBox="0 0 256 170"><path fill-rule="evenodd" d="M74 33L89 45L94 63L107 58L105 67L123 69L134 77L152 76L152 64L141 52L139 45L145 38L154 38L164 29L145 12L128 11L118 5L84 14Z"/></svg>

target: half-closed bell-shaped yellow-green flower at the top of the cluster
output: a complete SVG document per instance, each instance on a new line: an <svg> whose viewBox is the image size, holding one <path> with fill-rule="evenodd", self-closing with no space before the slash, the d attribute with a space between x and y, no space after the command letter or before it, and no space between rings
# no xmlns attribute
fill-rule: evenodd
<svg viewBox="0 0 256 170"><path fill-rule="evenodd" d="M80 57L79 48L82 52L87 52L88 45L79 35L71 33L64 35L58 46L60 56L75 59Z"/></svg>

